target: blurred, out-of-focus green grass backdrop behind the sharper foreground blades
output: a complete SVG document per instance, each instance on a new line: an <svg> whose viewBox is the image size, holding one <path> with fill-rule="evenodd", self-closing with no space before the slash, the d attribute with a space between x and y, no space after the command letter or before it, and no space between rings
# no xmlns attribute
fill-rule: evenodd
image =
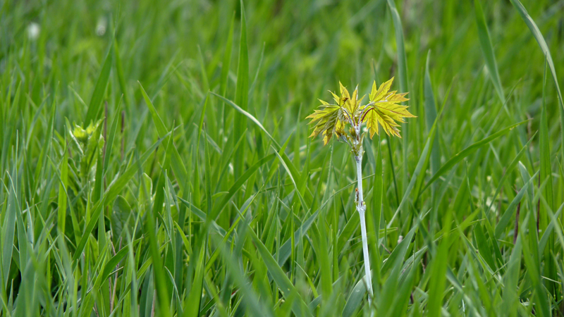
<svg viewBox="0 0 564 317"><path fill-rule="evenodd" d="M558 51L564 32L563 4L523 1L523 5L543 32L555 64L562 65ZM520 15L509 1L489 1L482 6L505 90L522 80L522 85L540 94L544 54ZM464 100L485 65L472 1L398 1L397 8L403 23L409 91L415 103L429 50L429 67L439 96L456 77L458 85L466 87L460 89ZM350 87L364 84L367 91L375 76L373 66L382 78L397 72L396 38L386 1L258 1L247 4L246 10L251 80L264 47L252 94L256 98L253 104L262 105L257 108L269 103L276 111L292 109L295 116L300 104L304 111L311 110L327 89L336 89L338 80ZM137 80L147 82L150 92L157 89L154 86L165 70L178 68L190 84L182 88L188 93L172 93L183 87L178 75L172 75L170 85L161 90L170 114L186 119L193 111L190 103L201 103L201 96L192 91L219 86L233 13L237 27L228 83L232 88L228 92L233 93L240 19L237 1L5 1L3 79L8 82L17 63L20 72L33 71L27 81L37 104L43 87L53 90L58 82L61 93L72 85L87 99L115 33L131 103L140 98ZM31 29L38 30L34 39L28 36ZM207 80L202 78L202 60ZM74 113L74 104L61 107L61 116ZM285 124L294 125L295 118L290 118L286 117Z"/></svg>

